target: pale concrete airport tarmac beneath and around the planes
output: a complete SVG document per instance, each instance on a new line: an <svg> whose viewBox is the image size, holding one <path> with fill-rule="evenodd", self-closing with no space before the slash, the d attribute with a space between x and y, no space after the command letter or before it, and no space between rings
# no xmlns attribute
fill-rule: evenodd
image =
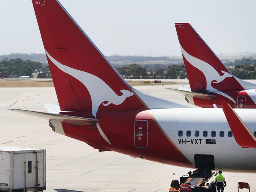
<svg viewBox="0 0 256 192"><path fill-rule="evenodd" d="M180 94L166 89L183 85L189 87L188 81L135 89L189 105ZM58 103L53 87L0 88L0 145L46 149L46 191L167 192L173 172L178 180L190 171L111 151L99 153L83 142L53 132L47 120L6 110L46 111L45 103ZM234 192L237 182L243 181L250 184L251 192L256 192L256 174L224 172L223 175L227 181L224 191Z"/></svg>

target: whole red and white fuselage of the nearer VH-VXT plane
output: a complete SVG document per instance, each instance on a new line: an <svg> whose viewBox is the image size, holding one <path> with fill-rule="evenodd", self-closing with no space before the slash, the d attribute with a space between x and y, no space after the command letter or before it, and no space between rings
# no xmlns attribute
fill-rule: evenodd
<svg viewBox="0 0 256 192"><path fill-rule="evenodd" d="M255 109L236 109L250 131L256 131ZM234 139L222 109L152 109L98 111L100 127L72 126L62 122L55 132L99 149L133 157L195 168L195 155L213 157L216 170L256 172L256 149L241 148ZM198 159L196 159L198 161ZM208 160L206 160L208 161Z"/></svg>

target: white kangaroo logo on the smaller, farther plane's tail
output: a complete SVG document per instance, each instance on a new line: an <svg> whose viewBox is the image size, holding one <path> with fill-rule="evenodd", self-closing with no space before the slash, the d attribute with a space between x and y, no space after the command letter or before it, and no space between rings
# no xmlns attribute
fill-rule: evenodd
<svg viewBox="0 0 256 192"><path fill-rule="evenodd" d="M215 68L213 68L211 65L209 65L205 61L202 61L200 59L197 59L196 57L193 57L192 55L189 55L182 48L181 45L180 45L180 49L181 49L181 52L182 52L183 56L186 58L186 60L191 65L193 65L195 68L199 69L204 74L204 76L206 78L206 90L209 90L211 92L216 92L217 94L221 94L222 96L224 96L224 97L230 99L232 102L236 103L236 101L232 97L230 97L226 93L221 92L221 91L219 91L219 90L217 90L217 89L215 89L214 87L211 86L211 83L220 83L221 81L223 81L226 78L233 77L232 74L221 70L223 75L220 76L220 74L215 70Z"/></svg>

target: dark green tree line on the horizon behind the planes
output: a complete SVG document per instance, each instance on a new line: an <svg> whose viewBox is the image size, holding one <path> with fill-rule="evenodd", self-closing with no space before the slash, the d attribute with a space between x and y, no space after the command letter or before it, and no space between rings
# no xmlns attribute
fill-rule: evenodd
<svg viewBox="0 0 256 192"><path fill-rule="evenodd" d="M248 63L248 64L246 64ZM256 60L243 58L225 63L229 70L240 79L256 79ZM238 65L239 64L239 65ZM117 71L126 79L186 79L187 73L182 63L178 65L148 64L116 66ZM39 71L37 78L52 78L49 66L43 66L38 61L23 59L4 59L0 61L0 77L30 76L35 70Z"/></svg>

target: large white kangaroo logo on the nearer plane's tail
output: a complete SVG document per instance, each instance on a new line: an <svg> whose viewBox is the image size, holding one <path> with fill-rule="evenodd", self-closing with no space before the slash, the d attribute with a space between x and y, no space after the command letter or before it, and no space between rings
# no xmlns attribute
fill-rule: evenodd
<svg viewBox="0 0 256 192"><path fill-rule="evenodd" d="M108 106L110 104L120 105L121 103L126 100L126 98L133 96L133 92L129 90L120 90L122 93L121 96L117 95L102 79L98 78L97 76L87 73L85 71L77 70L71 68L69 66L63 65L59 63L56 59L54 59L48 52L45 50L46 55L49 59L56 65L60 70L63 72L71 75L72 77L76 78L78 81L83 83L83 85L88 90L91 96L91 104L92 104L92 113L93 116L97 115L98 107L103 104L104 106ZM107 102L107 103L104 103ZM99 124L96 124L100 135L109 143L108 138L103 133L102 129L100 128Z"/></svg>

